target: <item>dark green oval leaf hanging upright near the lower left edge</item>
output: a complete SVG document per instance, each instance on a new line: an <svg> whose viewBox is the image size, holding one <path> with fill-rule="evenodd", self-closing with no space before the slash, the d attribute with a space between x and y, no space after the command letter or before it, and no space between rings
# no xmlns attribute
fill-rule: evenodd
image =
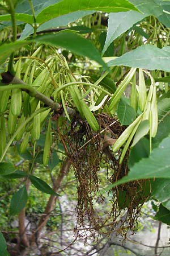
<svg viewBox="0 0 170 256"><path fill-rule="evenodd" d="M24 185L11 198L10 215L18 214L27 204L27 199L27 189Z"/></svg>

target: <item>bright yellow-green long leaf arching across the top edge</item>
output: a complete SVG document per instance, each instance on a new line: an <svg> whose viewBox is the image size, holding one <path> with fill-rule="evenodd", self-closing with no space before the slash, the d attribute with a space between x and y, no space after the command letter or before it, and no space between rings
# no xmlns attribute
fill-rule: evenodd
<svg viewBox="0 0 170 256"><path fill-rule="evenodd" d="M41 24L43 22L46 22L50 19L56 18L57 16L61 16L64 14L73 13L74 11L104 11L105 13L114 13L119 11L129 11L129 10L135 10L138 11L137 8L135 8L134 5L132 5L130 2L124 0L82 0L77 1L73 0L70 2L70 0L63 0L60 1L54 5L50 5L46 7L44 10L41 11L37 15L37 23Z"/></svg>

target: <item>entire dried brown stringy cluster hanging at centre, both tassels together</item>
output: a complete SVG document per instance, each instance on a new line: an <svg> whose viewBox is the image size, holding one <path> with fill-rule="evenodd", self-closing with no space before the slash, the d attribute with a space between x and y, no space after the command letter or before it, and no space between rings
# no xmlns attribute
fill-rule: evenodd
<svg viewBox="0 0 170 256"><path fill-rule="evenodd" d="M89 225L95 230L103 229L104 232L106 229L103 227L107 226L107 233L116 229L117 233L126 236L128 229L134 228L146 200L147 193L143 192L143 185L147 187L147 184L146 181L133 181L112 188L109 191L112 193L111 208L100 216L99 210L95 209L96 201L102 204L108 200L107 194L103 195L100 191L101 163L107 168L105 183L114 183L128 174L129 151L120 164L122 149L113 153L111 145L120 137L125 127L107 114L98 114L96 119L100 130L94 132L87 121L76 115L71 122L69 136L65 135L63 138L76 177L78 224L82 227ZM117 221L124 213L126 218L117 228Z"/></svg>

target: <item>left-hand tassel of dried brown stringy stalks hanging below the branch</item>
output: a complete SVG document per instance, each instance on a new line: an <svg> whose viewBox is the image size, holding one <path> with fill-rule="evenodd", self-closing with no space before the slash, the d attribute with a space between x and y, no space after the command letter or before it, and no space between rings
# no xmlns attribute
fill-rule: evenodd
<svg viewBox="0 0 170 256"><path fill-rule="evenodd" d="M96 226L97 216L95 216L93 204L95 195L99 191L100 133L94 133L87 121L74 118L70 135L66 139L77 182L78 221L84 225L84 219L87 218Z"/></svg>

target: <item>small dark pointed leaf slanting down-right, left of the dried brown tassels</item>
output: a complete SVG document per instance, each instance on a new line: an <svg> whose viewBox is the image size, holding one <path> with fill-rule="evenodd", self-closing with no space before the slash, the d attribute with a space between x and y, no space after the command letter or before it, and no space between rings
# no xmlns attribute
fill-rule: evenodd
<svg viewBox="0 0 170 256"><path fill-rule="evenodd" d="M46 182L44 180L39 179L36 176L29 176L29 179L31 180L32 184L39 189L39 191L49 194L49 195L53 195L53 196L59 196L56 192L53 191L53 189L46 184Z"/></svg>

